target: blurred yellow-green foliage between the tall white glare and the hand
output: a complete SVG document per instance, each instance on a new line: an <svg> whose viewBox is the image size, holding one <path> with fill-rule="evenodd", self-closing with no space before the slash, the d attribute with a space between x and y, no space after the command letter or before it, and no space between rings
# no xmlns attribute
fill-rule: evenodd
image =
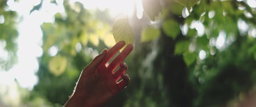
<svg viewBox="0 0 256 107"><path fill-rule="evenodd" d="M101 49L106 48L104 42L109 42L107 35L110 34L110 28L106 26L108 23L93 19L94 16L81 3L76 2L72 7L64 1L63 5L66 17L57 13L54 23L43 23L41 26L44 53L37 72L39 83L33 90L57 104L68 100L80 71L98 55L97 50L89 47L103 44ZM98 28L99 25L102 28ZM52 47L60 49L56 56L48 54Z"/></svg>

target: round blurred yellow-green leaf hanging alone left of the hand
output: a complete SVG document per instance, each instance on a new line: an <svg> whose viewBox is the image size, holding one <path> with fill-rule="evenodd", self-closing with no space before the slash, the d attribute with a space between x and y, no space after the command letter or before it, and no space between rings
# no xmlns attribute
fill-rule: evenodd
<svg viewBox="0 0 256 107"><path fill-rule="evenodd" d="M67 59L60 55L53 57L49 61L49 71L53 73L54 76L60 76L66 69Z"/></svg>

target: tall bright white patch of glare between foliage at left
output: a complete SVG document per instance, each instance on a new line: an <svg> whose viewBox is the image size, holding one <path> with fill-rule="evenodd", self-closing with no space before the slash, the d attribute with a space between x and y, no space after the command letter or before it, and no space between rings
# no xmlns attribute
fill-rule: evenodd
<svg viewBox="0 0 256 107"><path fill-rule="evenodd" d="M40 25L43 22L53 22L54 15L57 12L63 12L63 6L56 6L50 3L49 0L44 0L42 8L38 11L35 10L30 14L30 10L33 6L40 3L41 0L21 0L14 2L14 0L8 0L7 4L11 10L18 12L18 17L23 18L17 25L19 31L18 37L18 62L12 69L8 71L10 75L6 75L6 78L2 78L5 84L12 85L13 83L7 82L6 79L16 79L19 85L28 90L32 90L33 86L38 82L38 77L35 73L38 70L37 57L43 55L42 36ZM18 19L19 19L18 18ZM41 42L41 44L40 44Z"/></svg>

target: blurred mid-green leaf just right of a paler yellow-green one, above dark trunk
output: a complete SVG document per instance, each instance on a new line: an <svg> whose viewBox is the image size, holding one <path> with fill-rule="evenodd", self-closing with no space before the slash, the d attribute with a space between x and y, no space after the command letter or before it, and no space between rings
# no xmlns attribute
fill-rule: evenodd
<svg viewBox="0 0 256 107"><path fill-rule="evenodd" d="M173 39L181 32L179 24L172 19L164 20L163 30L167 36Z"/></svg>

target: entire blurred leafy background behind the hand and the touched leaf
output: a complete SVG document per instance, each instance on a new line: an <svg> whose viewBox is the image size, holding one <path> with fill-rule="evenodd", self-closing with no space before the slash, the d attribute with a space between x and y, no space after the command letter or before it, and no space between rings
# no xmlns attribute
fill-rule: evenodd
<svg viewBox="0 0 256 107"><path fill-rule="evenodd" d="M64 105L123 17L131 82L105 107L255 107L256 0L144 1L0 0L0 107Z"/></svg>

